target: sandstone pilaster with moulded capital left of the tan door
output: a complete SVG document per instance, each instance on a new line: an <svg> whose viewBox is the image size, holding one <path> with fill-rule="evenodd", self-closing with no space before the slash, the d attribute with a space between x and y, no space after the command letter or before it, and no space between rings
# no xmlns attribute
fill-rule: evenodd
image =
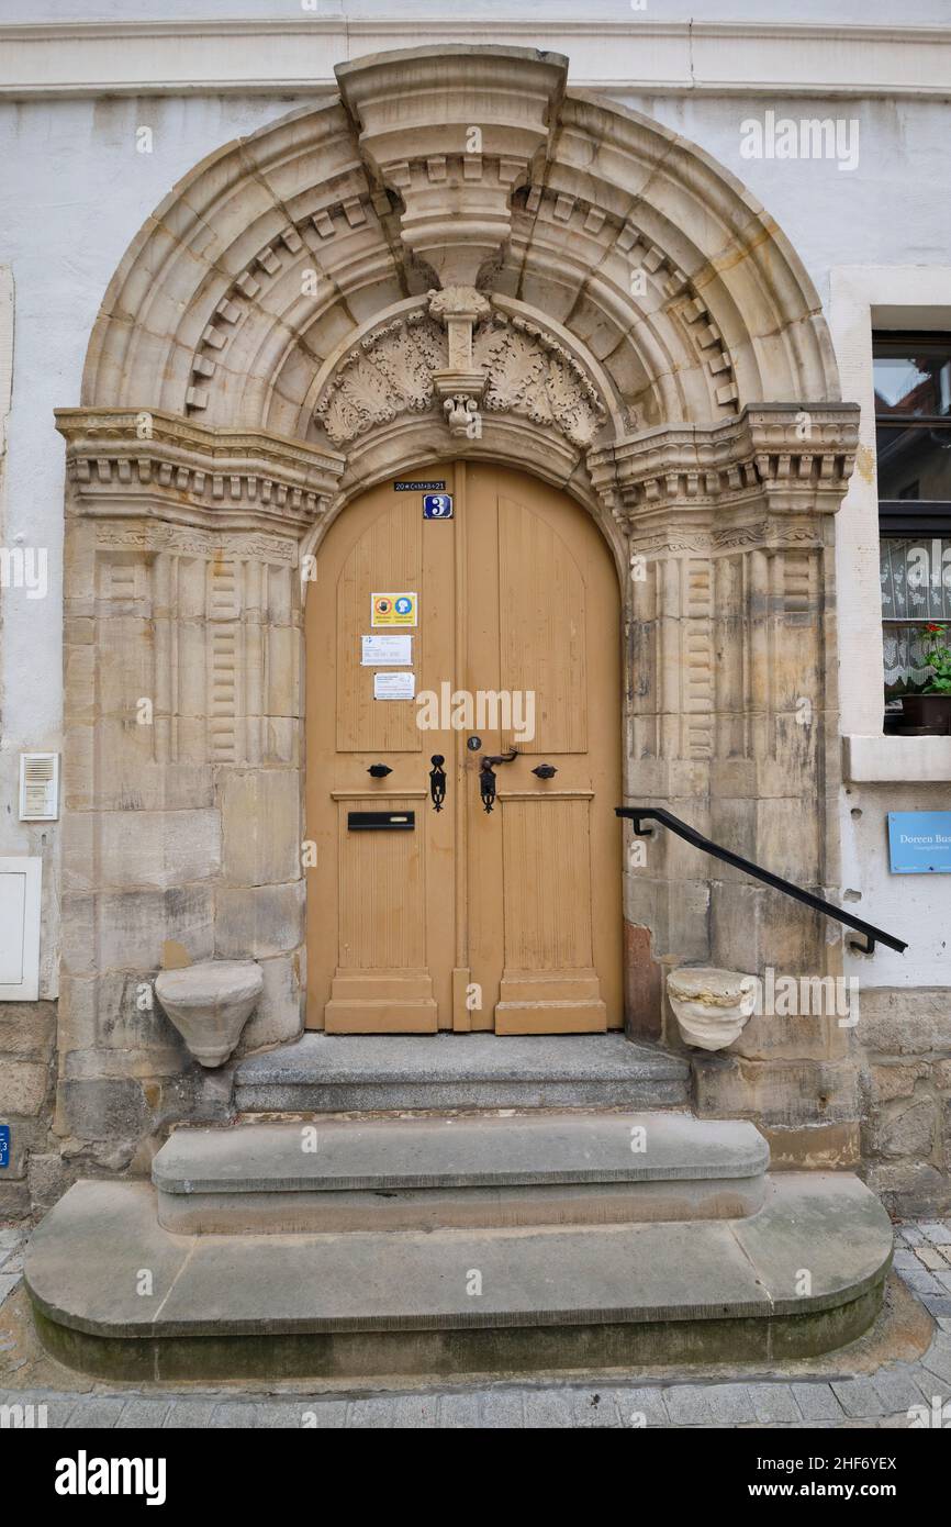
<svg viewBox="0 0 951 1527"><path fill-rule="evenodd" d="M124 1139L131 1151L150 1128L209 1107L153 996L169 945L191 960L261 962L244 1049L301 1028L298 545L342 463L157 412L72 409L58 426L69 443L58 1127L111 1142L113 1161Z"/></svg>

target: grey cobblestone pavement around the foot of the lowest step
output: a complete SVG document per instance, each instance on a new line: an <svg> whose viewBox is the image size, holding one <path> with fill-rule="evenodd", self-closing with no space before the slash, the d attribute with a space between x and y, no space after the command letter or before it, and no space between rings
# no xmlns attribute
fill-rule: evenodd
<svg viewBox="0 0 951 1527"><path fill-rule="evenodd" d="M951 1428L951 1219L896 1228L895 1267L936 1321L917 1362L850 1379L522 1382L385 1394L0 1391L0 1425L46 1406L50 1428ZM0 1229L0 1306L23 1275L23 1232Z"/></svg>

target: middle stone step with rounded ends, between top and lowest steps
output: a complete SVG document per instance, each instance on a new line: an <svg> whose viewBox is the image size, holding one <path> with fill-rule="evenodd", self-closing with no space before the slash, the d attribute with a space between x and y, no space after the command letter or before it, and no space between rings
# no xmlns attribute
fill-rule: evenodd
<svg viewBox="0 0 951 1527"><path fill-rule="evenodd" d="M168 1231L330 1232L737 1219L768 1165L745 1121L536 1112L182 1128L153 1182Z"/></svg>

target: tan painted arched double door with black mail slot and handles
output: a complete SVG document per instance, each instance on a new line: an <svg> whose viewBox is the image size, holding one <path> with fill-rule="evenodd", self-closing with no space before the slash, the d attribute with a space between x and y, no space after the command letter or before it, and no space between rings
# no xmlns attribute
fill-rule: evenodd
<svg viewBox="0 0 951 1527"><path fill-rule="evenodd" d="M444 481L453 518L424 521L421 492L380 484L331 527L308 591L308 1028L620 1028L611 554L583 508L524 473L409 476ZM417 625L374 628L372 596L400 592ZM363 638L391 634L411 637L412 666L362 664L379 655ZM400 672L415 698L374 698ZM513 750L485 811L482 762Z"/></svg>

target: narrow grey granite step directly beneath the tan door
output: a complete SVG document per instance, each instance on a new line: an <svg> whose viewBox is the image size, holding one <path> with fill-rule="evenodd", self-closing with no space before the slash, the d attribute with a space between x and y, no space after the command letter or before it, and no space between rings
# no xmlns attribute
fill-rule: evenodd
<svg viewBox="0 0 951 1527"><path fill-rule="evenodd" d="M305 1034L235 1072L241 1113L687 1107L679 1055L623 1034Z"/></svg>

